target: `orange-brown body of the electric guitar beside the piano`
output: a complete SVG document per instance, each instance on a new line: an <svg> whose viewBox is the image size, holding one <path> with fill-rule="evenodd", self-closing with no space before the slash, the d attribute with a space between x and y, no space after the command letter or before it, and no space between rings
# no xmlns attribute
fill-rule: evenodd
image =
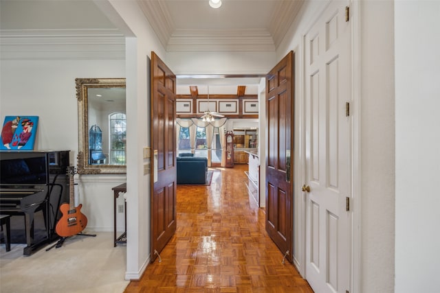
<svg viewBox="0 0 440 293"><path fill-rule="evenodd" d="M69 204L61 204L60 211L63 216L56 224L56 234L61 237L69 237L82 232L87 226L87 217L81 213L83 204L75 209L70 209Z"/></svg>

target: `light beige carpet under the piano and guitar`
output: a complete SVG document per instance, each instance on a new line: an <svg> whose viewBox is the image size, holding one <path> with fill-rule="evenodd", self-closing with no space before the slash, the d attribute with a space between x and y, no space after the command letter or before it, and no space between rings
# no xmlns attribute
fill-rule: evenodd
<svg viewBox="0 0 440 293"><path fill-rule="evenodd" d="M23 256L24 247L11 244L6 252L1 244L0 292L122 293L129 284L124 280L126 246L113 247L112 232L76 235L61 248L41 248L29 257Z"/></svg>

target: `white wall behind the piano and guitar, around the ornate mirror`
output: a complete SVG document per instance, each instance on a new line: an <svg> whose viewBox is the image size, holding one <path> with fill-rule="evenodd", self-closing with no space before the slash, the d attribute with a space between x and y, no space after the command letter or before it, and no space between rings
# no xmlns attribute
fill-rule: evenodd
<svg viewBox="0 0 440 293"><path fill-rule="evenodd" d="M124 60L1 60L0 116L39 116L35 150L70 150L78 155L78 102L75 78L124 77ZM113 191L125 176L93 176L93 185L79 183L78 194L88 231L113 231ZM119 215L122 226L122 214Z"/></svg>

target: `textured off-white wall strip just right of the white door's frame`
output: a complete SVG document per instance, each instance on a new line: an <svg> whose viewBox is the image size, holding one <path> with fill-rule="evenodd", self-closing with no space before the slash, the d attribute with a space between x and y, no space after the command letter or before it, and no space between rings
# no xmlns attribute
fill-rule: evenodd
<svg viewBox="0 0 440 293"><path fill-rule="evenodd" d="M393 292L395 91L393 1L361 10L361 290Z"/></svg>

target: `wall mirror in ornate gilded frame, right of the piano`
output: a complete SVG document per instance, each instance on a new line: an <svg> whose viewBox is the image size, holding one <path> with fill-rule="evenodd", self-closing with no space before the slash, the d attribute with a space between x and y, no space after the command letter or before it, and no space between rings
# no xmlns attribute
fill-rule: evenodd
<svg viewBox="0 0 440 293"><path fill-rule="evenodd" d="M78 174L126 174L125 78L76 78Z"/></svg>

